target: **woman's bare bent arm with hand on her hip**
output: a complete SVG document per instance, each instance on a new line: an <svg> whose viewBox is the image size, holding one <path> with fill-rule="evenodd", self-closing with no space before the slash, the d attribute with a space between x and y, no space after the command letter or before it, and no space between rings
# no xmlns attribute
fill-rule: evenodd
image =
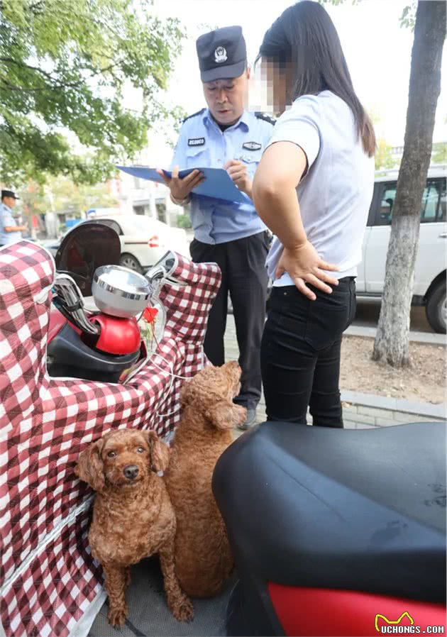
<svg viewBox="0 0 447 637"><path fill-rule="evenodd" d="M328 284L337 285L338 281L323 271L337 267L319 257L304 231L296 187L306 169L307 157L297 144L273 143L260 160L252 191L258 215L284 245L277 277L287 272L299 291L315 300L306 283L330 294Z"/></svg>

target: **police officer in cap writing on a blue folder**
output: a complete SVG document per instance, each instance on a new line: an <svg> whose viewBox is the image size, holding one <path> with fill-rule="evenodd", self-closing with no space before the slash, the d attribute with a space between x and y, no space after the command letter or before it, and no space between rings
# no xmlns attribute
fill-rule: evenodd
<svg viewBox="0 0 447 637"><path fill-rule="evenodd" d="M179 169L214 167L227 170L236 186L251 197L251 184L275 123L262 113L245 111L250 69L240 26L216 29L198 38L200 76L208 108L184 120L172 160L172 178L164 177L175 204L190 203L194 228L194 262L217 262L222 272L219 294L209 314L204 343L214 365L223 365L228 292L233 304L242 368L241 392L235 402L248 409L241 428L255 423L261 394L260 340L265 321L269 236L255 206L198 196L192 189L203 175L194 170L184 179ZM163 177L163 173L160 171Z"/></svg>

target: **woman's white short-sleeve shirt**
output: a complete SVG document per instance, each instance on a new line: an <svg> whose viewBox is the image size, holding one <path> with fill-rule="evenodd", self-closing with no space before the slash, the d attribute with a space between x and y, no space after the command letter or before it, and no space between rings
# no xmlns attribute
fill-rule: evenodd
<svg viewBox="0 0 447 637"><path fill-rule="evenodd" d="M288 141L307 156L308 170L297 187L307 238L322 259L333 263L335 278L357 275L373 197L374 157L358 138L353 113L330 91L304 95L277 120L268 145ZM275 279L282 244L275 237L267 257ZM293 285L285 273L275 285Z"/></svg>

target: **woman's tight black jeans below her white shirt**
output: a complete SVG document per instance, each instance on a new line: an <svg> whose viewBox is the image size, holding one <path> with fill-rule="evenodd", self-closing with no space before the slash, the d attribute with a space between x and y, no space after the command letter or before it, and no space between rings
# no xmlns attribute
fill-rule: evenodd
<svg viewBox="0 0 447 637"><path fill-rule="evenodd" d="M311 287L311 286L309 286ZM269 420L343 427L340 349L355 316L355 279L341 279L332 294L315 288L310 301L294 286L274 287L261 346Z"/></svg>

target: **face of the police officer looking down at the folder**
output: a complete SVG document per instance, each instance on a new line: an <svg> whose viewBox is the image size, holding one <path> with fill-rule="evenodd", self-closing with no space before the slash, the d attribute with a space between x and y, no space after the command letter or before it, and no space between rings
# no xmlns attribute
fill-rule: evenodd
<svg viewBox="0 0 447 637"><path fill-rule="evenodd" d="M250 69L240 77L204 82L204 96L217 123L232 126L241 117L248 98Z"/></svg>

